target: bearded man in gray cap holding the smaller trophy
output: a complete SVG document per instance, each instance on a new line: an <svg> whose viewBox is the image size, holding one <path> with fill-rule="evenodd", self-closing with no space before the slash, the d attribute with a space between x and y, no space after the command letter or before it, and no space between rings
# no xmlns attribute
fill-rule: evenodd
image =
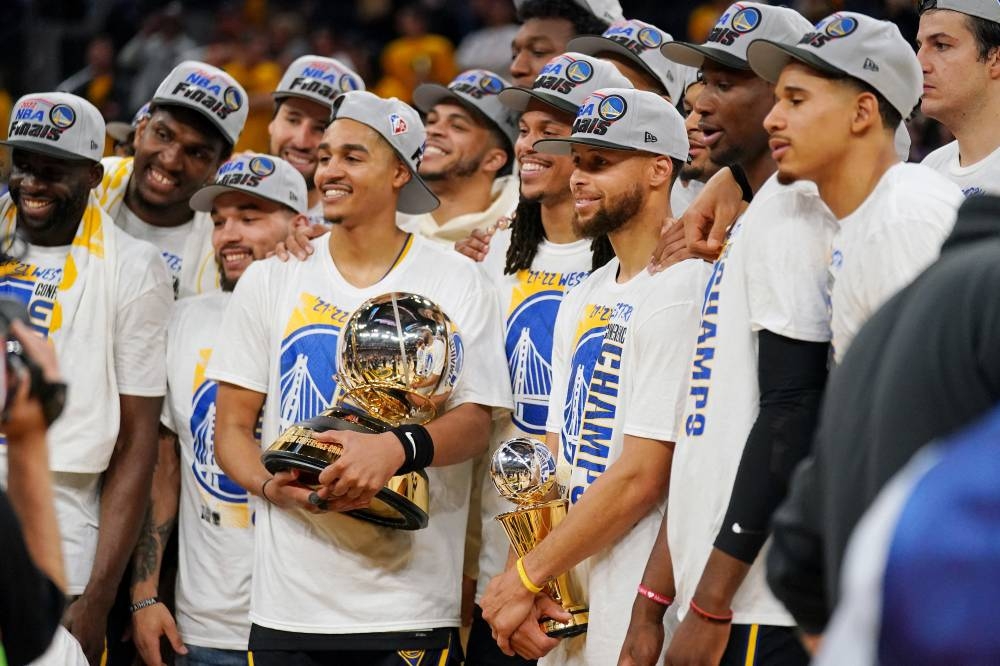
<svg viewBox="0 0 1000 666"><path fill-rule="evenodd" d="M627 609L642 593L640 553L663 515L709 267L689 260L646 271L688 154L684 121L670 103L650 92L597 90L580 105L569 138L535 148L572 152L574 225L584 236L606 233L616 256L565 297L553 334L546 439L569 510L490 582L483 616L508 654L605 666L617 663ZM567 589L558 581L571 569L582 599L563 604L571 613L551 612L540 593L553 580ZM539 626L544 615L583 620L575 608L583 603L585 635L560 640L551 622L547 631Z"/></svg>

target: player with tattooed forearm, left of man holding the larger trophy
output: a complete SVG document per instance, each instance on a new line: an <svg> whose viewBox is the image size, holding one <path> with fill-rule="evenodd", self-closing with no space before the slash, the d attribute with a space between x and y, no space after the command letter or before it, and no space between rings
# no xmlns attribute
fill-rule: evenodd
<svg viewBox="0 0 1000 666"><path fill-rule="evenodd" d="M243 271L273 250L293 224L305 223L307 203L298 170L253 153L224 163L214 183L191 199L192 210L212 216L222 290L178 302L167 331L167 398L151 519L136 547L132 581L132 604L140 607L132 614L133 637L150 666L162 663L161 636L181 655L181 664L247 663L253 511L246 491L215 460L217 385L205 379L205 367ZM175 521L176 621L159 602L160 563Z"/></svg>

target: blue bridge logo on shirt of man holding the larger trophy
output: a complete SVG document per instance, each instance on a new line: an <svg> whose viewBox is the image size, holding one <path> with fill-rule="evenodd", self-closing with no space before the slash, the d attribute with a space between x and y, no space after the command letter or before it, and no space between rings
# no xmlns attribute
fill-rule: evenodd
<svg viewBox="0 0 1000 666"><path fill-rule="evenodd" d="M311 419L333 404L337 393L337 342L350 316L350 311L318 296L299 294L299 305L281 341L282 430Z"/></svg>

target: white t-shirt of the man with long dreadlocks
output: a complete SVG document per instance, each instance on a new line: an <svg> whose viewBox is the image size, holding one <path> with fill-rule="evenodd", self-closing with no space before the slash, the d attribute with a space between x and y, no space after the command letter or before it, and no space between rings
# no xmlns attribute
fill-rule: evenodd
<svg viewBox="0 0 1000 666"><path fill-rule="evenodd" d="M507 240L498 242L498 236ZM552 392L552 330L563 297L590 273L590 240L573 243L542 241L530 270L514 275L503 272L510 230L497 231L486 260L480 264L496 286L500 316L504 322L504 347L514 393L514 411L504 412L493 422L490 454L512 437L545 441L549 394ZM490 579L503 573L510 541L496 516L516 507L500 496L485 465L482 480L482 546L479 554L478 602Z"/></svg>

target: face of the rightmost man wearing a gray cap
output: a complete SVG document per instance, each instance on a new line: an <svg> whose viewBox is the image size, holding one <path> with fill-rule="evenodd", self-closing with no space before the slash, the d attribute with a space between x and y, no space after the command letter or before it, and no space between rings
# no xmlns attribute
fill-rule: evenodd
<svg viewBox="0 0 1000 666"><path fill-rule="evenodd" d="M800 63L785 66L775 89L777 101L764 120L778 180L819 182L842 164L848 149L858 92L820 76Z"/></svg>

